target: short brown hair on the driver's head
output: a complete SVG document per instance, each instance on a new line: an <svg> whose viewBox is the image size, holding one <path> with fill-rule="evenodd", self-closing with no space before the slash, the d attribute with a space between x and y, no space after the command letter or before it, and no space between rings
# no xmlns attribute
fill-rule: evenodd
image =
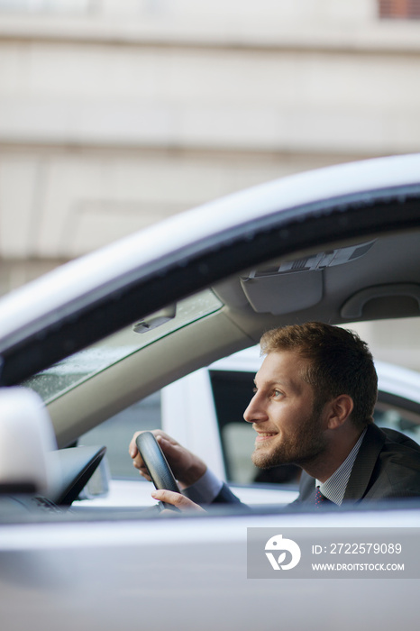
<svg viewBox="0 0 420 631"><path fill-rule="evenodd" d="M352 422L365 427L373 421L378 376L368 344L339 326L308 322L272 329L260 339L261 352L291 351L310 361L302 379L315 392L315 411L342 394L353 400Z"/></svg>

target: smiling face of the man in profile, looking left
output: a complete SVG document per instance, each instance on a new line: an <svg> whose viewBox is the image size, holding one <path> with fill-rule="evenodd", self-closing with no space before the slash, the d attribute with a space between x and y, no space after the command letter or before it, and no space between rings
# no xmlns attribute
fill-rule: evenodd
<svg viewBox="0 0 420 631"><path fill-rule="evenodd" d="M295 352L269 352L255 377L243 417L257 432L252 462L260 469L314 461L327 447L314 390L302 380L307 360Z"/></svg>

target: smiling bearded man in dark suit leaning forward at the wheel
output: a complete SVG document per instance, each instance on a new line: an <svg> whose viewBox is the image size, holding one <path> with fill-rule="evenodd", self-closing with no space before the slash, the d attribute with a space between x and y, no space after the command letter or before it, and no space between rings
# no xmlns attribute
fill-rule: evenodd
<svg viewBox="0 0 420 631"><path fill-rule="evenodd" d="M357 334L312 322L273 329L260 345L265 359L243 415L257 434L251 455L257 467L297 464L303 469L297 502L317 507L420 496L420 447L373 424L378 378ZM137 434L129 451L150 479ZM239 501L195 454L160 430L154 434L183 489L182 495L155 491L154 498L181 509Z"/></svg>

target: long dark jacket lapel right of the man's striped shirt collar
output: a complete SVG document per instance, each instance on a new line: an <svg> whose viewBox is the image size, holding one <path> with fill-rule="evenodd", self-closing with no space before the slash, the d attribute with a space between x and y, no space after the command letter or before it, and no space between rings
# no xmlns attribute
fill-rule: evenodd
<svg viewBox="0 0 420 631"><path fill-rule="evenodd" d="M354 461L344 501L357 502L364 497L380 450L387 440L377 425L368 425L359 453Z"/></svg>

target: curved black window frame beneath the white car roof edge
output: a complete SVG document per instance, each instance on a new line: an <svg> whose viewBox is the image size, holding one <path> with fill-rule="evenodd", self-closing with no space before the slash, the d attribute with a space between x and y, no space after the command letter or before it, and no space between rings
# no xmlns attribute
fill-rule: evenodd
<svg viewBox="0 0 420 631"><path fill-rule="evenodd" d="M418 225L420 185L365 190L262 215L130 270L0 339L0 386L11 386L158 311L263 261L315 244Z"/></svg>

